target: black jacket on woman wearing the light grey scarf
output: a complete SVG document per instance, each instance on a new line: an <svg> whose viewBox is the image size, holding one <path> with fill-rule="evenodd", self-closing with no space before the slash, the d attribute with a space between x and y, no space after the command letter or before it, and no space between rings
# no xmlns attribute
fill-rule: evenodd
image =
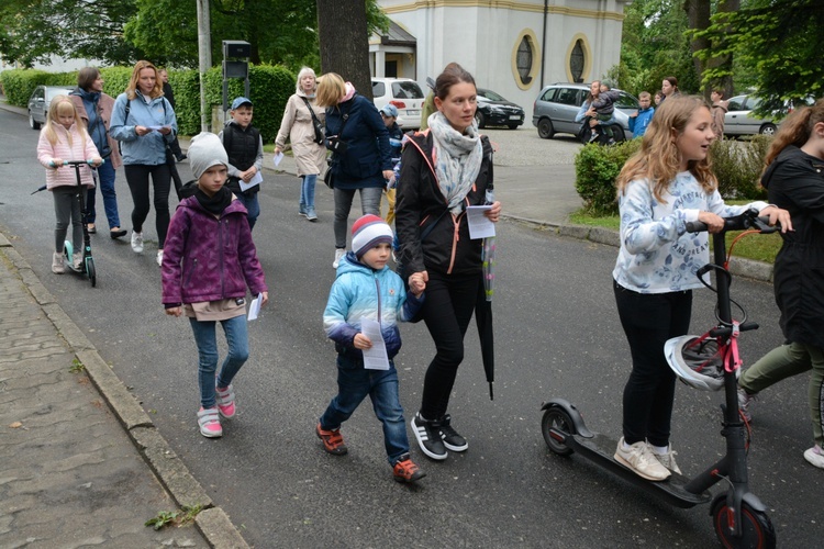
<svg viewBox="0 0 824 549"><path fill-rule="evenodd" d="M407 135L394 221L405 272L480 273L483 240L469 238L466 209L457 216L446 212L446 199L432 161L432 134L426 131ZM465 205L485 204L487 190L492 190L492 145L487 136L480 138L483 158L475 184L464 199ZM421 233L431 223L436 225L421 242Z"/></svg>

